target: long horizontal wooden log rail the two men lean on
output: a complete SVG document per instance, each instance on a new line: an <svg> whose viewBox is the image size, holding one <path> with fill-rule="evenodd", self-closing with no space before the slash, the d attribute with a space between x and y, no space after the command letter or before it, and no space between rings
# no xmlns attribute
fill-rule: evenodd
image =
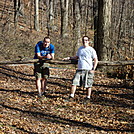
<svg viewBox="0 0 134 134"><path fill-rule="evenodd" d="M16 60L16 61L0 61L0 65L8 65L8 64L30 64L37 62L38 59L30 59L30 60ZM59 64L59 65L68 65L68 64L77 64L77 60L44 60L46 63L50 64ZM98 66L124 66L124 65L134 65L134 60L129 61L99 61Z"/></svg>

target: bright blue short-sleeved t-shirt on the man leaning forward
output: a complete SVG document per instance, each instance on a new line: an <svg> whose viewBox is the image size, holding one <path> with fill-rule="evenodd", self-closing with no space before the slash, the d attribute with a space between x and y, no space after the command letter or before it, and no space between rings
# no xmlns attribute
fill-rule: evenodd
<svg viewBox="0 0 134 134"><path fill-rule="evenodd" d="M35 55L34 59L38 59L37 53L40 53L41 56L46 56L47 54L55 53L54 45L50 44L48 47L43 47L43 41L39 41L35 46Z"/></svg>

